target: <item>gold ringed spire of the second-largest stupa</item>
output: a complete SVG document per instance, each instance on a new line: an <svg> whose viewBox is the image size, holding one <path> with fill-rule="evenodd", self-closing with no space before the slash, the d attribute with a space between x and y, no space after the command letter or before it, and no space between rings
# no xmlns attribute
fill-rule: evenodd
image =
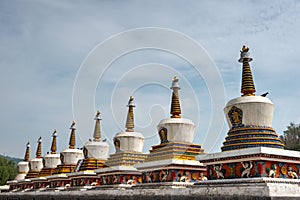
<svg viewBox="0 0 300 200"><path fill-rule="evenodd" d="M181 118L181 109L180 109L180 101L179 101L179 95L178 90L180 90L180 87L178 85L178 78L175 76L172 81L172 87L173 90L172 93L172 102L171 102L171 118Z"/></svg>

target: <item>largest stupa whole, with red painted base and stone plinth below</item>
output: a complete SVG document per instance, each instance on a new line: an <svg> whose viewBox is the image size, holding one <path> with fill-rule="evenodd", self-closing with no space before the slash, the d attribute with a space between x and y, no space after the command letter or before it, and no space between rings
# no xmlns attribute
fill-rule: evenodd
<svg viewBox="0 0 300 200"><path fill-rule="evenodd" d="M287 197L299 194L300 153L284 150L284 145L272 128L274 105L266 97L255 96L250 69L249 48L243 46L239 62L242 65L241 97L230 100L224 113L229 131L222 152L198 156L207 167L210 185L208 193L244 196ZM222 180L216 180L222 179ZM221 189L222 188L222 189ZM266 197L264 197L266 198Z"/></svg>

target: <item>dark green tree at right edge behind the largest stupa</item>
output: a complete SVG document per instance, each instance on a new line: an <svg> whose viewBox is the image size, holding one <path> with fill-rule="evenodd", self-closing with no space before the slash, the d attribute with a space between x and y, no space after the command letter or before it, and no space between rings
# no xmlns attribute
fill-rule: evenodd
<svg viewBox="0 0 300 200"><path fill-rule="evenodd" d="M300 124L291 122L280 139L284 143L285 149L300 151Z"/></svg>

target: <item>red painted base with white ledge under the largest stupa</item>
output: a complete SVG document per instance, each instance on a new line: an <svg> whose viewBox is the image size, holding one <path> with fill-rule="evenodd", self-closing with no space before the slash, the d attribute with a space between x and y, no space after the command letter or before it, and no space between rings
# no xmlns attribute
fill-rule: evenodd
<svg viewBox="0 0 300 200"><path fill-rule="evenodd" d="M255 147L200 155L207 166L208 179L271 177L298 179L300 152Z"/></svg>

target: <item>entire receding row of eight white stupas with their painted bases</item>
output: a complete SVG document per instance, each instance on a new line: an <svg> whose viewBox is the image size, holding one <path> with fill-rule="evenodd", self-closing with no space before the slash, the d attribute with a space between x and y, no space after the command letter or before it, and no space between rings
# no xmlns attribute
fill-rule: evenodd
<svg viewBox="0 0 300 200"><path fill-rule="evenodd" d="M93 141L83 150L75 148L75 123L71 126L69 148L56 153L56 131L51 153L41 157L41 139L36 158L29 160L29 144L25 159L18 164L19 174L9 184L12 190L31 187L44 181L50 188L70 184L84 186L153 182L191 182L237 178L298 178L300 153L283 150L284 145L272 128L274 105L266 95L256 96L250 69L249 48L243 47L239 62L243 63L241 97L230 100L224 108L229 126L222 152L204 154L199 144L193 144L195 125L181 117L178 79L172 81L171 117L157 125L160 144L143 154L144 137L134 131L133 97L128 102L126 130L113 138L115 153L101 141L100 112L96 114ZM197 158L197 160L196 160ZM276 170L276 169L279 169ZM26 182L26 180L28 180ZM245 181L241 179L241 181ZM253 179L247 184L265 181ZM284 182L286 183L286 181ZM26 185L27 184L27 185ZM207 182L207 184L221 184ZM25 186L24 186L25 185ZM35 185L35 189L46 185ZM285 186L283 186L285 188ZM293 186L293 189L295 187Z"/></svg>

